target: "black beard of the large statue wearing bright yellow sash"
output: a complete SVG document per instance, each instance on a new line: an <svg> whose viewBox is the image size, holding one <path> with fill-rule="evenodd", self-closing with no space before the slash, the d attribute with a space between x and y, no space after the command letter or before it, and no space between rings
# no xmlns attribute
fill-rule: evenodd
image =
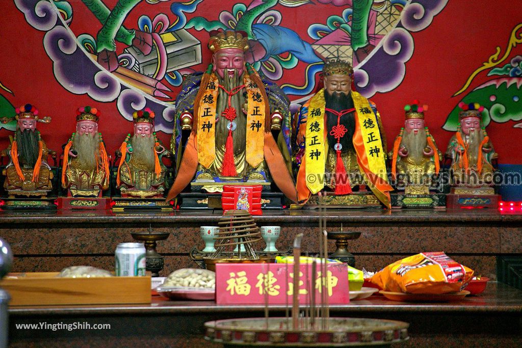
<svg viewBox="0 0 522 348"><path fill-rule="evenodd" d="M342 111L346 109L352 109L353 100L350 94L334 92L331 95L325 91L325 101L326 107L335 111ZM330 130L332 127L337 125L337 116L331 112L325 111L326 113L326 129L328 131L328 145L333 147L335 143L337 143L337 138L330 134ZM345 136L339 139L339 142L342 145L342 152L346 152L349 150L353 150L353 134L355 133L355 116L354 113L348 113L342 115L339 124L342 124L348 130L345 133Z"/></svg>

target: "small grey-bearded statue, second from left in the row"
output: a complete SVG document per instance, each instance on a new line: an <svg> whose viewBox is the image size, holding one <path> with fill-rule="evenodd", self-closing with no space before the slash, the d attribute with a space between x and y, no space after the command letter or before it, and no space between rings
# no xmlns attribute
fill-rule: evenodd
<svg viewBox="0 0 522 348"><path fill-rule="evenodd" d="M76 111L76 132L64 148L62 187L72 197L101 197L109 188L109 158L101 133L100 111L80 107Z"/></svg>

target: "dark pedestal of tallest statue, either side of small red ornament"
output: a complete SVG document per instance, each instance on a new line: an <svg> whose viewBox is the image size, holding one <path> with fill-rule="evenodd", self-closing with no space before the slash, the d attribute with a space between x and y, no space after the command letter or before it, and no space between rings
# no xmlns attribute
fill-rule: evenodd
<svg viewBox="0 0 522 348"><path fill-rule="evenodd" d="M221 206L221 193L181 193L177 196L177 204L181 210L223 209ZM262 210L281 210L284 205L284 195L282 193L262 191Z"/></svg>

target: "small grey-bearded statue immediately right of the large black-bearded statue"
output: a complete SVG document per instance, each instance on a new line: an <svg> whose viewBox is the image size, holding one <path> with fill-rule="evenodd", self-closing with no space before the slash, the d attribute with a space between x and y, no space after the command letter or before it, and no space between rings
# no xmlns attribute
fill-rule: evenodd
<svg viewBox="0 0 522 348"><path fill-rule="evenodd" d="M399 186L405 187L405 194L427 195L430 193L433 175L440 170L442 154L428 127L424 127L424 112L428 110L428 105L421 106L415 100L412 105L406 105L404 110L406 121L390 153L392 177Z"/></svg>

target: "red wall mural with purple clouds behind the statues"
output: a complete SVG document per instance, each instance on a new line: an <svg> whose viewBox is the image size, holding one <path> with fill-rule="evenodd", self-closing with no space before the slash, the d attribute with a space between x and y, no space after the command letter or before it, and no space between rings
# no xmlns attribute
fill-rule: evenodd
<svg viewBox="0 0 522 348"><path fill-rule="evenodd" d="M426 124L443 147L462 101L486 106L493 139L502 137L497 127L509 123L511 133L521 128L514 122L522 120L522 25L506 17L513 6L507 0L4 3L7 20L16 26L0 37L7 48L0 57L0 116L13 116L27 102L37 105L60 120L41 129L51 133L46 138L56 149L72 130L78 105L102 110L100 127L110 151L130 129L132 113L144 107L159 116L159 136L168 142L183 77L206 69L209 33L222 29L248 34L248 61L282 87L294 109L321 83L326 59L352 62L357 90L378 104L390 141L404 123L402 106L413 99L430 105ZM14 125L0 128L4 148ZM499 141L500 162L522 163L522 154L504 161L509 141Z"/></svg>

